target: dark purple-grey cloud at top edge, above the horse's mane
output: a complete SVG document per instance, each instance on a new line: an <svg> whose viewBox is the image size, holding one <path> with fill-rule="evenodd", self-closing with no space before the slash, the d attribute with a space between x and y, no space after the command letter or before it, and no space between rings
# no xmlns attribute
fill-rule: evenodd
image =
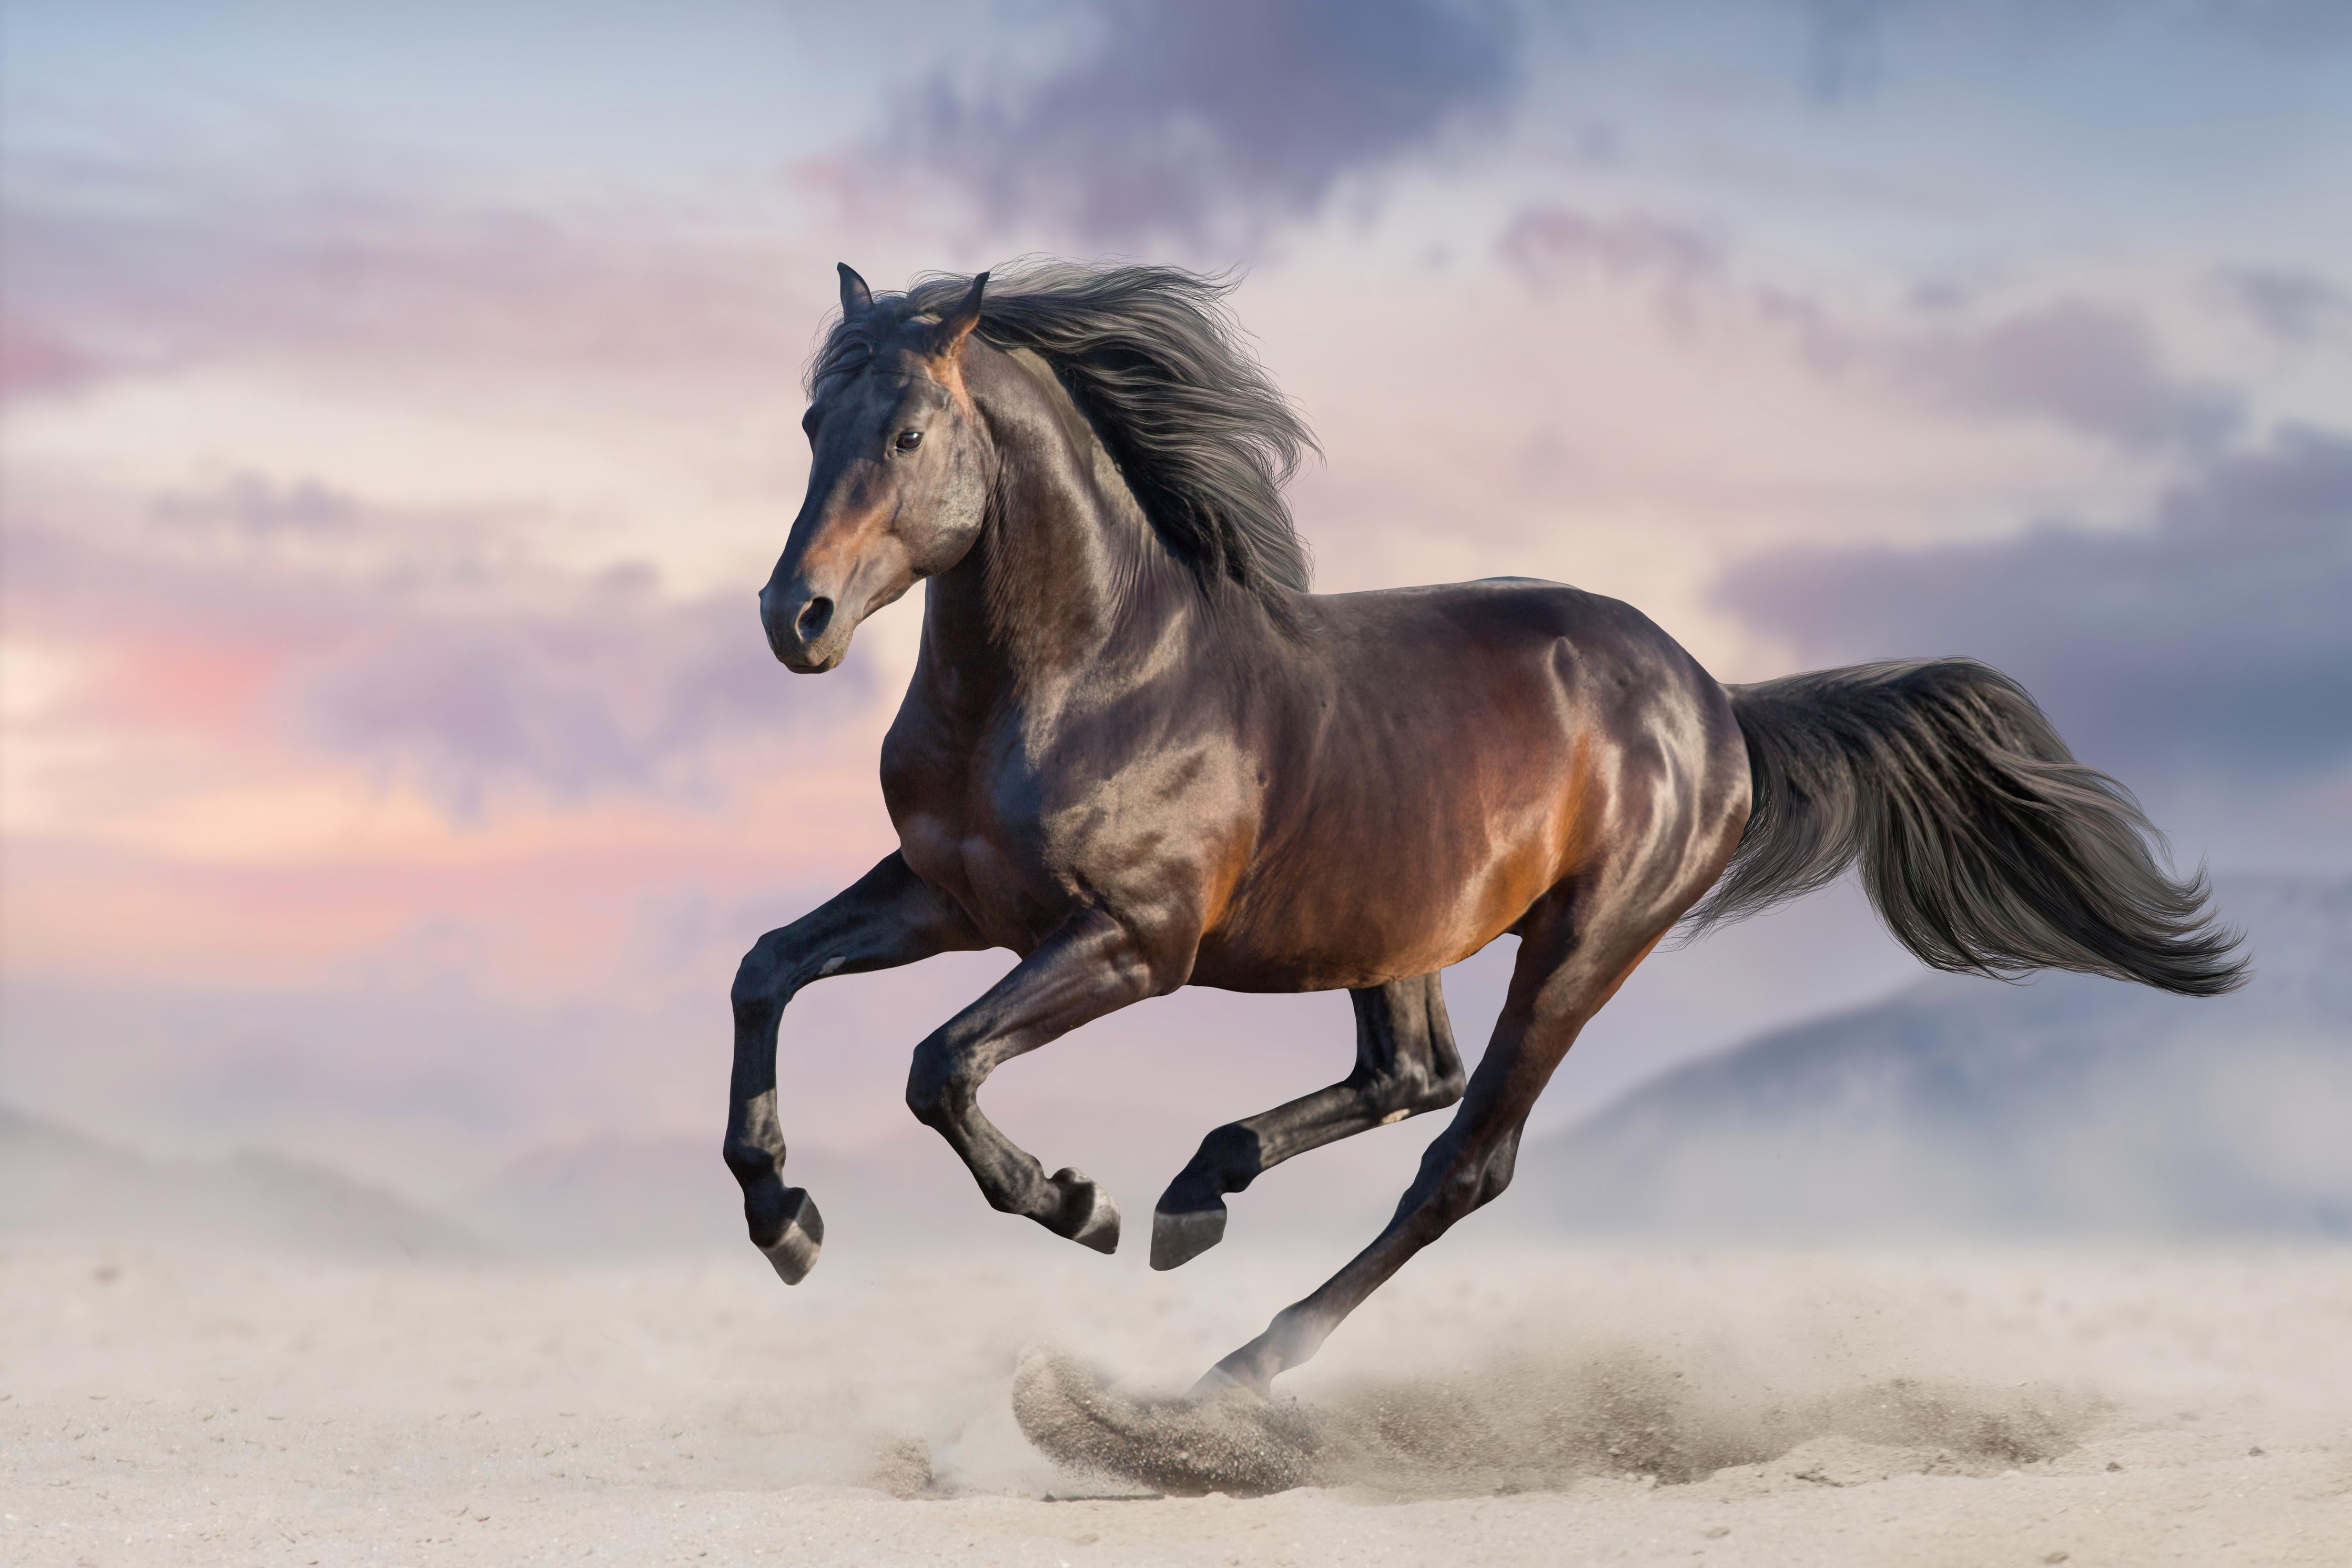
<svg viewBox="0 0 2352 1568"><path fill-rule="evenodd" d="M1484 0L1129 0L1009 101L936 78L901 150L1087 240L1258 233L1501 110L1517 33Z"/></svg>

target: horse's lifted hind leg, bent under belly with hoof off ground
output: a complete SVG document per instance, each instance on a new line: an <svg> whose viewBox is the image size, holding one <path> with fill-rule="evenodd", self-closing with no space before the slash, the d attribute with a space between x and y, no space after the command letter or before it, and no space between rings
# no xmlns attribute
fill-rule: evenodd
<svg viewBox="0 0 2352 1568"><path fill-rule="evenodd" d="M1225 1197L1294 1154L1367 1133L1463 1098L1463 1058L1437 976L1348 992L1355 1001L1355 1072L1289 1105L1228 1121L1200 1140L1152 1213L1152 1267L1174 1269L1225 1237Z"/></svg>

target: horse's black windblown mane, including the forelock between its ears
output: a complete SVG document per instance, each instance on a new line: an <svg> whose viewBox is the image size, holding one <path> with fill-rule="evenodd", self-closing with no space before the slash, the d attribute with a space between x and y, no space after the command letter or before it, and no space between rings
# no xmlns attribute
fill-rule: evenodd
<svg viewBox="0 0 2352 1568"><path fill-rule="evenodd" d="M974 331L1054 367L1178 559L1204 583L1228 578L1263 597L1308 585L1282 487L1317 447L1244 346L1225 308L1235 282L1171 266L1016 261L990 273ZM809 362L811 393L861 371L894 327L948 310L967 284L931 275L837 322Z"/></svg>

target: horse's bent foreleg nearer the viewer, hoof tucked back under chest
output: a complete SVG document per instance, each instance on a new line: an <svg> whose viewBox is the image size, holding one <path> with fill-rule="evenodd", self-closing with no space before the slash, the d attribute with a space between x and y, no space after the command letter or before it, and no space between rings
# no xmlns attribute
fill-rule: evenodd
<svg viewBox="0 0 2352 1568"><path fill-rule="evenodd" d="M993 1208L1037 1220L1098 1253L1120 1248L1120 1208L1075 1168L1044 1173L981 1114L988 1074L1025 1051L1164 990L1136 940L1108 914L1082 912L1009 976L915 1046L906 1105L971 1168Z"/></svg>

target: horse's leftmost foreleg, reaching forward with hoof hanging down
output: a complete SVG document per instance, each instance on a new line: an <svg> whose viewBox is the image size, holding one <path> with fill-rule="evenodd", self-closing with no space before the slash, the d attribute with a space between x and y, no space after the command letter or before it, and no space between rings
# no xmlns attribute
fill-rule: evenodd
<svg viewBox="0 0 2352 1568"><path fill-rule="evenodd" d="M826 1239L809 1194L783 1185L783 1126L776 1119L776 1025L783 1004L826 976L896 969L936 952L985 945L962 910L894 853L743 954L734 980L727 1168L743 1187L750 1241L776 1265L783 1284L797 1286L807 1276Z"/></svg>

